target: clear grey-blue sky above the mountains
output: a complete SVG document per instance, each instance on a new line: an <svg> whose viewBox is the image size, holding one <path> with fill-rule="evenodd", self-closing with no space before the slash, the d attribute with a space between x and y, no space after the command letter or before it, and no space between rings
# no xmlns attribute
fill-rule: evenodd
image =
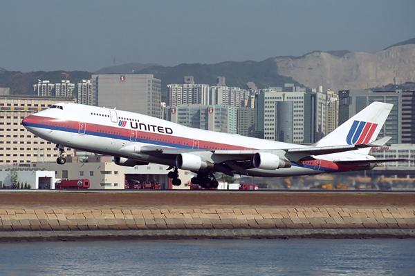
<svg viewBox="0 0 415 276"><path fill-rule="evenodd" d="M93 72L316 50L373 54L415 37L414 11L413 0L2 1L0 68Z"/></svg>

